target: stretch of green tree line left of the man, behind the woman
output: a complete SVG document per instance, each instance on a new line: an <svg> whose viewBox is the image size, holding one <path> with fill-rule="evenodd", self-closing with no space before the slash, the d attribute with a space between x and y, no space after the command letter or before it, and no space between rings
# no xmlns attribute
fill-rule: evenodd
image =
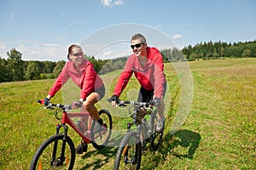
<svg viewBox="0 0 256 170"><path fill-rule="evenodd" d="M8 59L0 57L0 82L15 82L26 80L39 80L56 78L61 73L66 61L25 61L21 59L21 53L12 48L8 53ZM127 57L118 59L95 59L94 56L84 55L90 60L96 72L100 75L110 71L122 69Z"/></svg>

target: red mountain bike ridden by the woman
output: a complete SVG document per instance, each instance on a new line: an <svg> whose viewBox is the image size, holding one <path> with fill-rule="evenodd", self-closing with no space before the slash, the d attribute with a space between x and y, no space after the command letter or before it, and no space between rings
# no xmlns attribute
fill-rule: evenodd
<svg viewBox="0 0 256 170"><path fill-rule="evenodd" d="M44 100L38 100L44 105ZM55 118L61 123L56 125L56 133L41 144L32 158L30 169L73 169L75 162L75 146L67 135L68 126L72 127L82 138L82 144L92 144L101 150L108 144L112 133L112 116L107 110L99 111L103 120L102 129L94 132L96 121L89 112L71 112L81 105L52 104L44 109L55 110ZM84 122L86 120L86 122ZM63 129L63 130L62 130ZM61 130L61 131L60 131ZM63 132L62 132L63 131ZM87 149L87 148L86 148Z"/></svg>

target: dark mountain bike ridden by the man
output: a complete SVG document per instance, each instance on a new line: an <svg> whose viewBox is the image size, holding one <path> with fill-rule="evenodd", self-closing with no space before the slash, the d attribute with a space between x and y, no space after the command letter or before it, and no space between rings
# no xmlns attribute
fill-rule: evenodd
<svg viewBox="0 0 256 170"><path fill-rule="evenodd" d="M125 105L130 105L128 111L132 122L127 123L127 133L119 144L114 169L139 169L142 150L147 143L157 150L162 142L163 132L156 131L157 111L153 107L153 101L119 101L120 107Z"/></svg>

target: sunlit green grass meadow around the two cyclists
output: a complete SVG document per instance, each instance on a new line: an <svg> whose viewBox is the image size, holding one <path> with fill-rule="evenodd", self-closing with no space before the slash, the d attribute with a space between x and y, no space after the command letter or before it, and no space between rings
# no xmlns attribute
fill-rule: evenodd
<svg viewBox="0 0 256 170"><path fill-rule="evenodd" d="M177 63L178 64L178 63ZM178 109L181 85L172 64L165 65L166 130L157 151L143 152L143 169L253 169L256 167L256 59L216 59L189 62L193 77L193 101L183 126L171 134ZM119 71L102 76L111 96ZM54 79L0 83L0 169L28 169L34 152L55 133L55 116L40 110L36 99L43 99ZM67 86L63 93L70 92ZM122 94L137 99L137 80ZM68 94L70 95L70 94ZM69 96L68 96L69 97ZM77 99L76 95L71 99ZM56 94L54 102L67 97ZM131 118L126 109L113 108L102 99L99 108L111 111L113 128L125 128ZM120 115L122 117L120 117ZM69 130L77 145L79 136ZM110 144L122 135L113 133ZM75 169L113 169L117 148L96 150L76 156Z"/></svg>

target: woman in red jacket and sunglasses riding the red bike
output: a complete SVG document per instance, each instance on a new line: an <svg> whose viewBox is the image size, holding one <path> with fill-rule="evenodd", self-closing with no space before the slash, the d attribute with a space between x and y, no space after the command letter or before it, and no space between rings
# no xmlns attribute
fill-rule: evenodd
<svg viewBox="0 0 256 170"><path fill-rule="evenodd" d="M50 88L46 100L49 102L49 99L54 97L67 80L71 78L73 82L81 88L79 103L83 106L82 111L89 111L96 119L98 123L96 123L94 131L99 132L102 130L103 122L94 104L105 95L105 87L102 78L96 74L92 63L84 59L84 53L79 45L73 44L68 48L67 59L66 65L64 65L60 75ZM81 147L82 145L79 145L77 150L80 150Z"/></svg>

